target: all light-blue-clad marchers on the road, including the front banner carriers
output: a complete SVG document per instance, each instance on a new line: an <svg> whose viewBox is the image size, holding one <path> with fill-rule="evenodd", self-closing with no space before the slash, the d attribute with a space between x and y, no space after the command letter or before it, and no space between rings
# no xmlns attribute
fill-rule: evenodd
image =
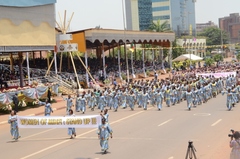
<svg viewBox="0 0 240 159"><path fill-rule="evenodd" d="M217 72L219 68L211 68L210 72ZM237 69L235 69L236 71ZM227 77L215 78L214 76L197 76L198 72L206 72L204 68L198 70L186 70L182 73L173 73L172 78L152 80L135 80L125 85L117 85L107 87L103 90L88 90L82 94L77 93L76 96L63 97L67 102L66 112L69 116L74 116L73 107L76 112L86 112L86 109L101 111L102 123L98 128L100 145L102 151L106 153L108 149L108 139L112 137L112 129L108 124L108 110L118 111L119 108L131 110L135 107L147 110L148 106L156 106L160 111L163 105L170 107L180 102L186 101L187 109L197 107L203 103L207 103L210 99L215 98L218 94L226 94L226 106L231 110L240 100L240 85L235 75L229 74ZM222 70L223 71L223 70ZM229 71L229 70L228 70ZM231 71L231 70L230 70ZM230 72L229 71L229 72ZM52 111L51 104L47 101L45 105L45 115L50 116ZM17 128L16 112L12 111L9 117L11 124L11 134L15 140L19 136ZM68 134L70 138L76 136L75 128L69 128Z"/></svg>

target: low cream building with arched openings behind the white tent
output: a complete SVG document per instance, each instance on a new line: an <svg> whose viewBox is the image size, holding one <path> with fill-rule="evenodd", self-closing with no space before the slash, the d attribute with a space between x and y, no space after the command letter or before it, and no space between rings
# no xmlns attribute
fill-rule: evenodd
<svg viewBox="0 0 240 159"><path fill-rule="evenodd" d="M206 56L206 39L180 38L177 39L177 45L185 48L187 54L194 54L200 57Z"/></svg>

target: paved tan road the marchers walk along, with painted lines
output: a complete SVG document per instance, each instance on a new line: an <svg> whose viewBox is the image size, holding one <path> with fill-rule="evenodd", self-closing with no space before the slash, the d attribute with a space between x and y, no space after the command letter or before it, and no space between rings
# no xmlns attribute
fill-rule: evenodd
<svg viewBox="0 0 240 159"><path fill-rule="evenodd" d="M21 129L22 138L12 142L9 125L0 125L2 159L184 159L192 140L198 159L227 159L230 129L240 130L237 105L225 106L226 96L218 95L207 104L187 110L186 102L157 111L120 109L109 111L114 131L109 153L102 155L96 129L77 129L70 140L66 129ZM65 110L54 112L64 115ZM87 111L98 114L98 111ZM77 115L80 113L77 113Z"/></svg>

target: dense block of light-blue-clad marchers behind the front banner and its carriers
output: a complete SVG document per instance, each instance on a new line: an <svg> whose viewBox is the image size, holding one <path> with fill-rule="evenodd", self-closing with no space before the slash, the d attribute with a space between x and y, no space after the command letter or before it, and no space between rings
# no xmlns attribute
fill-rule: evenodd
<svg viewBox="0 0 240 159"><path fill-rule="evenodd" d="M196 77L189 75L188 78L175 77L172 79L152 79L152 80L136 80L132 83L120 87L119 85L112 88L104 88L104 90L93 90L92 92L83 92L77 94L75 104L73 97L70 95L64 98L67 101L67 112L75 105L75 111L86 112L89 107L92 111L96 108L101 112L105 108L117 111L119 107L131 110L135 109L135 105L139 108L147 110L148 105L157 106L158 110L162 109L162 105L170 107L184 100L187 101L187 109L197 105L206 103L211 98L216 97L219 93L227 94L227 108L232 109L240 97L240 86L237 85L235 76L230 75L225 78Z"/></svg>

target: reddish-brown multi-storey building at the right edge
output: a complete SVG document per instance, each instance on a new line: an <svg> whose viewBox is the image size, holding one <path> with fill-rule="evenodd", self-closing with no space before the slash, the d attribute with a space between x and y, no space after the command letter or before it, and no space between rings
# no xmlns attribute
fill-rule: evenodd
<svg viewBox="0 0 240 159"><path fill-rule="evenodd" d="M230 43L240 42L239 13L232 13L227 17L219 18L219 28L228 33Z"/></svg>

